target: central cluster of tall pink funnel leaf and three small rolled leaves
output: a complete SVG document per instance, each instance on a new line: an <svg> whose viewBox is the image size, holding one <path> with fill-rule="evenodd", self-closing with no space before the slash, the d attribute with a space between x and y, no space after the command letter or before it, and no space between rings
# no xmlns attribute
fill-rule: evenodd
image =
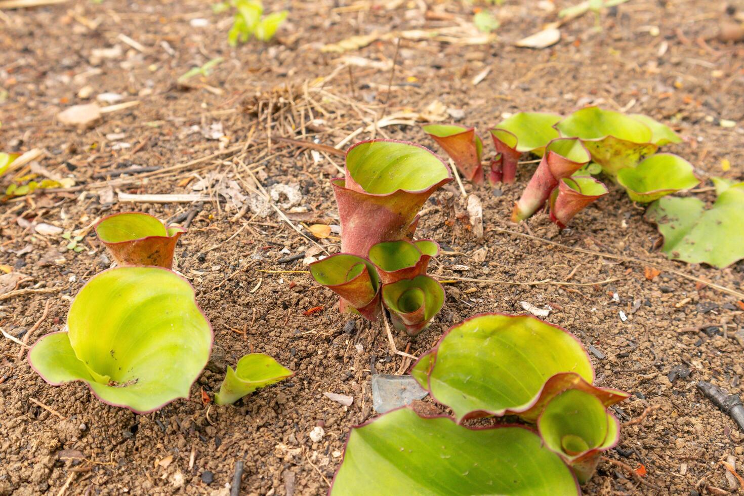
<svg viewBox="0 0 744 496"><path fill-rule="evenodd" d="M310 274L341 297L341 312L376 321L381 301L397 329L417 335L442 309L444 289L426 275L439 245L411 241L417 213L449 168L423 146L362 141L346 153L344 177L331 180L341 220L341 253L310 265Z"/></svg>

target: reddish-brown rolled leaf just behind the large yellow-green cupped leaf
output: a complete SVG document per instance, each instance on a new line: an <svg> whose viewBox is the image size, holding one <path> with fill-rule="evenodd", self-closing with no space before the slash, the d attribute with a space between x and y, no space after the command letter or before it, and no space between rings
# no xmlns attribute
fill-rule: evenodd
<svg viewBox="0 0 744 496"><path fill-rule="evenodd" d="M95 232L118 265L171 268L176 242L186 230L177 225L166 228L149 213L124 212L101 219Z"/></svg>

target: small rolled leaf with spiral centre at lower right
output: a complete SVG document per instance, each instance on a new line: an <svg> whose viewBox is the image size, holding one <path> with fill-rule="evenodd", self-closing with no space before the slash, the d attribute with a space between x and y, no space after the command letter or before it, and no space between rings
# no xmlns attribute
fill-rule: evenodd
<svg viewBox="0 0 744 496"><path fill-rule="evenodd" d="M545 446L571 466L582 484L594 474L600 453L614 448L620 439L618 419L596 396L576 389L548 402L537 429Z"/></svg>

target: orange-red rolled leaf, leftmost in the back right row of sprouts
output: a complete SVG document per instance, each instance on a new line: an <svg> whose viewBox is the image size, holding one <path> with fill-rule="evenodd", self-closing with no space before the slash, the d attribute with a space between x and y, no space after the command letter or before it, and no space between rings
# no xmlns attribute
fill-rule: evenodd
<svg viewBox="0 0 744 496"><path fill-rule="evenodd" d="M474 127L431 124L423 126L423 130L447 152L468 181L483 182L483 142L475 134Z"/></svg>

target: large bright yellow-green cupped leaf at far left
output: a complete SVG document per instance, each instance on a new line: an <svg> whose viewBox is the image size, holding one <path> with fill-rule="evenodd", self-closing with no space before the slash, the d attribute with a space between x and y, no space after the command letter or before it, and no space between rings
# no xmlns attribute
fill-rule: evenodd
<svg viewBox="0 0 744 496"><path fill-rule="evenodd" d="M136 413L187 398L213 338L191 285L158 267L97 274L75 297L67 325L36 341L33 370L56 386L86 382L101 401Z"/></svg>

